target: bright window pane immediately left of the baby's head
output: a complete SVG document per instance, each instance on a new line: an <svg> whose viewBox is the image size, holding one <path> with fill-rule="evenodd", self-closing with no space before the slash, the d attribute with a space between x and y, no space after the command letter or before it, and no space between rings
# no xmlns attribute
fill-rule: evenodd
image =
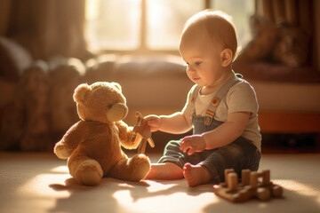
<svg viewBox="0 0 320 213"><path fill-rule="evenodd" d="M184 23L204 9L204 0L147 0L147 45L178 50Z"/></svg>

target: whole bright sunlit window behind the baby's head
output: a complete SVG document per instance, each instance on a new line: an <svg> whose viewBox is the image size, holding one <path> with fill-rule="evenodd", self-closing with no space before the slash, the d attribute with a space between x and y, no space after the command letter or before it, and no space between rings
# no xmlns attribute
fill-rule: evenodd
<svg viewBox="0 0 320 213"><path fill-rule="evenodd" d="M86 39L92 51L178 53L184 23L205 8L230 14L239 43L250 40L248 0L86 0Z"/></svg>

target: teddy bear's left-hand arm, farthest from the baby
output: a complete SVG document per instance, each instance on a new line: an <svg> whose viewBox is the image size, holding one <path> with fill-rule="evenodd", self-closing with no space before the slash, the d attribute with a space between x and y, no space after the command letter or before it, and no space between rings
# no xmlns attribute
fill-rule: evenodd
<svg viewBox="0 0 320 213"><path fill-rule="evenodd" d="M54 146L54 154L60 159L67 159L82 141L84 136L83 122L76 122Z"/></svg>

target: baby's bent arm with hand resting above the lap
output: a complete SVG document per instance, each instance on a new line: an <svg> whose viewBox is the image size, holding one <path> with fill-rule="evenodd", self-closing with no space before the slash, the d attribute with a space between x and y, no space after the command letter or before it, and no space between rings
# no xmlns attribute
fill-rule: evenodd
<svg viewBox="0 0 320 213"><path fill-rule="evenodd" d="M215 130L183 138L180 149L184 153L188 151L188 154L193 154L195 152L202 152L204 149L226 146L242 135L249 117L249 112L228 114L227 122L224 122Z"/></svg>

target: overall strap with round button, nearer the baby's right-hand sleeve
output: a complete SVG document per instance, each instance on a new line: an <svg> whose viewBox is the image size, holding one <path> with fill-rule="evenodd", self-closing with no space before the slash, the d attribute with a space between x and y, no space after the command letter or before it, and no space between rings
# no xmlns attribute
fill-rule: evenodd
<svg viewBox="0 0 320 213"><path fill-rule="evenodd" d="M212 99L208 109L205 112L205 119L204 124L210 125L212 123L213 117L215 115L215 112L220 104L220 101L226 96L230 88L235 85L236 83L239 83L240 80L237 77L239 75L232 76L228 79L226 83L224 83L220 89L215 94L214 98ZM241 76L239 76L241 77Z"/></svg>

